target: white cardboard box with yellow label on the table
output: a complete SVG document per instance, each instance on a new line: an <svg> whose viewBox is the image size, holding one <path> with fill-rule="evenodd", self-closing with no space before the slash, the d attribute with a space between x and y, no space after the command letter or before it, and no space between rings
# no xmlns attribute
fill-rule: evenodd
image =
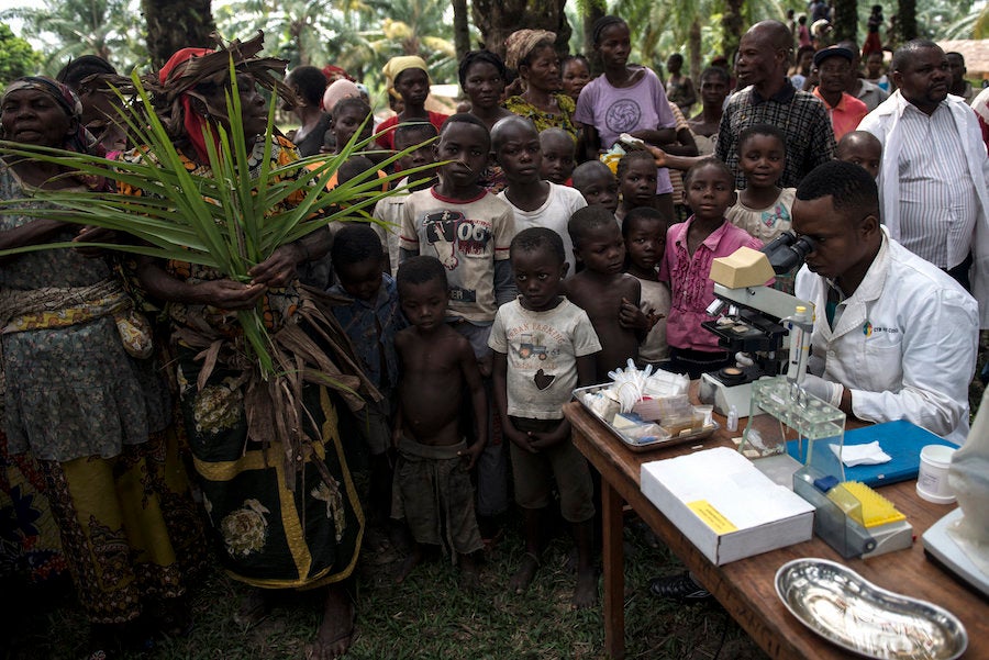
<svg viewBox="0 0 989 660"><path fill-rule="evenodd" d="M642 492L719 566L813 535L813 505L727 447L643 463Z"/></svg>

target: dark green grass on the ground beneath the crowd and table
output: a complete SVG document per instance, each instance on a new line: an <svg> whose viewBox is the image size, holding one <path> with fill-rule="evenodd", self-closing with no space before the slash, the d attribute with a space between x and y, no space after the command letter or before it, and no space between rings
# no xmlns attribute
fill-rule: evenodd
<svg viewBox="0 0 989 660"><path fill-rule="evenodd" d="M682 606L648 595L648 580L682 570L668 551L647 542L636 521L625 528L625 627L627 658L762 659L765 656L716 603ZM357 635L353 660L580 660L604 657L600 605L574 611L575 574L567 570L570 544L560 535L547 549L524 595L507 584L522 555L512 525L489 553L476 594L457 589L448 559L416 567L396 584L387 555L365 553L356 579ZM318 593L291 592L251 629L233 622L246 588L212 570L192 593L195 626L187 637L158 640L144 660L276 660L303 657L320 623ZM70 592L68 592L70 593ZM71 596L18 606L4 636L2 658L69 660L84 657L87 625ZM4 599L7 600L7 599ZM14 604L12 600L7 600ZM16 605L15 605L16 606ZM719 653L719 649L720 653Z"/></svg>

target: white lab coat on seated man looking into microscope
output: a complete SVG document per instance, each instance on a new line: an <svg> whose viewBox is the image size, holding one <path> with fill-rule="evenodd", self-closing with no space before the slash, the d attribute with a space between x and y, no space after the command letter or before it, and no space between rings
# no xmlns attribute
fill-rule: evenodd
<svg viewBox="0 0 989 660"><path fill-rule="evenodd" d="M808 371L852 391L867 422L908 420L945 439L968 435L968 384L978 348L978 304L955 280L882 228L882 247L827 324L827 283L807 266L796 294L814 303Z"/></svg>

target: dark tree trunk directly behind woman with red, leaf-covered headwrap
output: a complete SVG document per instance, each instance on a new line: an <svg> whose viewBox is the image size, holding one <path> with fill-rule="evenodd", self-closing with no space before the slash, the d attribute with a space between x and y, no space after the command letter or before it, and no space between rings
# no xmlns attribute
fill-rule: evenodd
<svg viewBox="0 0 989 660"><path fill-rule="evenodd" d="M210 0L141 0L141 9L147 20L147 53L155 68L180 48L213 45L210 33L216 24Z"/></svg>

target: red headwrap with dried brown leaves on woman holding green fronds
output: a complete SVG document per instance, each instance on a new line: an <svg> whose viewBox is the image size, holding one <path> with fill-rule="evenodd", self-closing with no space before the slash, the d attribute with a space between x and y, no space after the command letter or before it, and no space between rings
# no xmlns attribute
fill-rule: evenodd
<svg viewBox="0 0 989 660"><path fill-rule="evenodd" d="M213 36L219 41L219 37ZM203 82L229 82L231 59L236 70L251 74L263 88L275 91L292 104L298 103L296 93L281 80L286 60L256 57L264 46L264 33L258 31L257 35L243 43L234 40L225 47L221 43L216 51L182 48L169 57L156 75L144 78L144 86L155 93L155 103L168 131L174 137L187 137L200 161L209 161L203 139L203 126L208 125L208 118L192 110L192 99L207 102L196 91L196 87Z"/></svg>

